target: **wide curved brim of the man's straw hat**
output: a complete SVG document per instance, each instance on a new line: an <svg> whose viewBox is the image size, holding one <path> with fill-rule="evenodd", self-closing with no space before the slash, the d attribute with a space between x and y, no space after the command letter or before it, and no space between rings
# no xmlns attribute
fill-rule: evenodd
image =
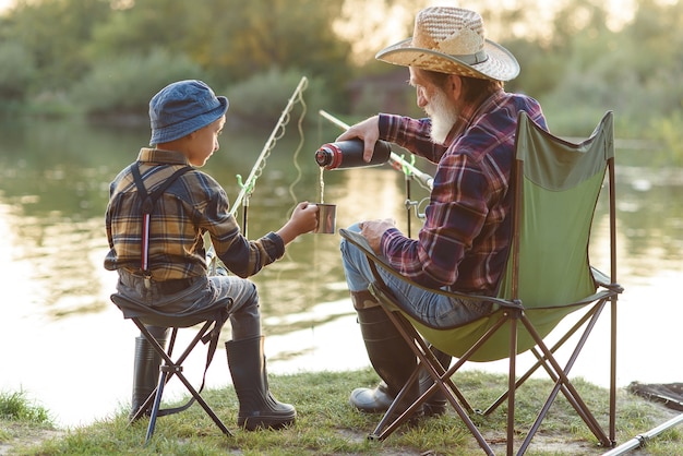
<svg viewBox="0 0 683 456"><path fill-rule="evenodd" d="M483 50L488 56L486 61L468 64L447 53L414 47L412 38L407 38L382 49L375 59L402 67L494 81L511 81L517 77L519 63L512 52L489 39L484 40Z"/></svg>

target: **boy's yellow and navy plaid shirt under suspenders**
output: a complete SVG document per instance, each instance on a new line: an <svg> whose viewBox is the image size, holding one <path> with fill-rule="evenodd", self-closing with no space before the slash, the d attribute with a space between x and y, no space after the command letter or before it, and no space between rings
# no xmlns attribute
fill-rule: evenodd
<svg viewBox="0 0 683 456"><path fill-rule="evenodd" d="M147 192L152 192L177 169L189 165L178 152L142 148L137 156ZM137 274L141 267L142 199L131 173L123 169L111 182L106 213L109 252L105 268L124 268ZM225 190L197 169L182 175L159 197L151 221L149 269L156 281L205 275L203 235L208 231L216 254L240 277L249 277L285 253L283 240L274 232L250 241L233 216Z"/></svg>

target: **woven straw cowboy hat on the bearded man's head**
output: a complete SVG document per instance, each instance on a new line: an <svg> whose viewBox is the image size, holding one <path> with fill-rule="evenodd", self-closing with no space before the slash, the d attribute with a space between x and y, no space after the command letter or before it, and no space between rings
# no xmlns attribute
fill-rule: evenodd
<svg viewBox="0 0 683 456"><path fill-rule="evenodd" d="M462 8L421 10L411 38L382 49L375 56L388 63L440 73L510 81L519 63L504 47L484 38L483 20Z"/></svg>

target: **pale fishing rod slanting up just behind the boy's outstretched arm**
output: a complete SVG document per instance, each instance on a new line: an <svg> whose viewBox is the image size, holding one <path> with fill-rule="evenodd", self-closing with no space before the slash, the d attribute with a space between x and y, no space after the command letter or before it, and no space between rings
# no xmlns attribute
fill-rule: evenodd
<svg viewBox="0 0 683 456"><path fill-rule="evenodd" d="M251 172L249 173L249 177L247 178L247 180L242 182L242 177L240 175L237 175L237 181L238 181L238 184L240 185L240 192L237 195L237 199L235 200L235 202L232 203L232 207L230 207L229 214L235 216L235 214L237 213L237 208L240 206L240 204L242 205L242 232L244 236L248 236L247 235L247 214L249 211L249 199L251 194L254 192L254 188L256 185L256 179L261 177L261 173L263 172L263 168L265 168L265 161L268 155L271 155L271 152L273 151L275 143L277 142L277 140L279 140L283 136L284 127L289 122L289 113L291 109L293 108L295 104L301 99L301 95L303 94L303 91L305 91L308 86L308 82L309 81L305 76L302 76L301 81L299 81L299 85L297 85L297 88L289 97L289 100L287 101L287 106L285 106L285 109L283 109L279 120L277 121L277 123L275 124L275 128L271 132L271 136L264 144L263 149L261 151L261 154L259 155L259 158L256 158L256 163L251 168ZM208 266L208 275L227 275L227 269L225 265L218 259L218 256L216 256L216 251L211 240L211 235L208 232L204 235L204 248L206 250L206 265Z"/></svg>

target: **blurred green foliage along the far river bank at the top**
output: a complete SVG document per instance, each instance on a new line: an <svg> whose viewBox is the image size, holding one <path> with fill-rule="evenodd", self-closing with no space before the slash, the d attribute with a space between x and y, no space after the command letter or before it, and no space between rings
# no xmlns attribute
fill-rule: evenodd
<svg viewBox="0 0 683 456"><path fill-rule="evenodd" d="M231 115L269 127L305 75L313 106L368 116L383 109L380 94L366 89L351 103L351 91L402 71L373 56L409 36L415 13L433 3L15 0L0 15L0 111L121 121L146 116L164 85L202 79L239 100ZM523 71L507 89L539 99L554 132L586 135L612 109L619 137L649 141L683 164L681 2L457 4L480 11L489 37L515 53ZM410 95L399 106L419 115Z"/></svg>

